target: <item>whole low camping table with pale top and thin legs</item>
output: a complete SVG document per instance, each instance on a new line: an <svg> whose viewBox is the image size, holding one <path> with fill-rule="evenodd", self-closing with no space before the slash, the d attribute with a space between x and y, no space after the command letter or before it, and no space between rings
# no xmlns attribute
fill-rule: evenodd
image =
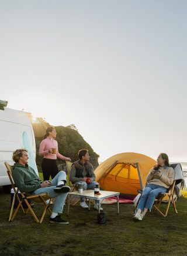
<svg viewBox="0 0 187 256"><path fill-rule="evenodd" d="M101 200L108 198L108 197L117 197L117 214L119 214L119 192L115 191L100 191L101 195L94 194L94 190L84 190L83 193L78 193L78 191L75 192L70 192L68 193L68 211L67 215L69 215L70 211L70 197L71 196L76 196L76 197L86 197L89 199L89 210L91 206L91 200L99 200L99 213L100 213L100 206L101 206Z"/></svg>

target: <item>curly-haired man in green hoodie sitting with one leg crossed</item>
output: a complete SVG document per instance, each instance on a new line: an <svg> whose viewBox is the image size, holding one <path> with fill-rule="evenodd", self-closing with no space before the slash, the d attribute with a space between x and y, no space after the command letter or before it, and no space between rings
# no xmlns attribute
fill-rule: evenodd
<svg viewBox="0 0 187 256"><path fill-rule="evenodd" d="M29 159L27 150L17 149L13 152L12 159L15 161L12 177L19 190L29 194L47 193L51 198L56 197L50 223L69 224L58 215L63 213L65 198L70 191L70 187L65 186L67 182L65 172L60 171L53 180L42 182L32 167L27 164Z"/></svg>

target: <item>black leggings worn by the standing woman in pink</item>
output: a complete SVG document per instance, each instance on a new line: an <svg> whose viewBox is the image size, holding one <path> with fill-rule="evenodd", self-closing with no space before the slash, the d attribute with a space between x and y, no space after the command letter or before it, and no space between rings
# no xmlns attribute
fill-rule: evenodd
<svg viewBox="0 0 187 256"><path fill-rule="evenodd" d="M53 179L58 173L57 160L44 158L41 163L43 172L43 180L49 180L50 176Z"/></svg>

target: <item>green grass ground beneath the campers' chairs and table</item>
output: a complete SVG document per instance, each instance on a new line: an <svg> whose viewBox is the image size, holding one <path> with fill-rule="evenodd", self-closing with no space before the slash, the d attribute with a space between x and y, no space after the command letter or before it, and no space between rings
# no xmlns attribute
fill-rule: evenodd
<svg viewBox="0 0 187 256"><path fill-rule="evenodd" d="M1 255L186 255L187 199L176 203L178 214L172 207L168 217L157 212L148 213L140 222L131 218L131 204L104 205L107 223L96 223L97 212L70 207L70 215L63 218L69 225L49 223L46 214L42 224L36 224L32 215L19 211L12 223L8 222L10 195L0 187L0 251ZM41 214L41 204L34 210ZM163 207L163 206L162 206Z"/></svg>

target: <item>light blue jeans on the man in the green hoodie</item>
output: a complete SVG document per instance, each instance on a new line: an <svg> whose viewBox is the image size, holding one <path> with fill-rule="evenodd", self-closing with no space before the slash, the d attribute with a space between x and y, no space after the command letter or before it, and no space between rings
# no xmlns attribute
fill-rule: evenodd
<svg viewBox="0 0 187 256"><path fill-rule="evenodd" d="M56 200L53 205L53 213L63 213L65 199L68 193L56 193L54 188L56 188L58 181L66 181L65 171L59 171L59 173L51 180L51 187L41 187L34 191L33 194L42 194L47 193L51 198L56 197Z"/></svg>

